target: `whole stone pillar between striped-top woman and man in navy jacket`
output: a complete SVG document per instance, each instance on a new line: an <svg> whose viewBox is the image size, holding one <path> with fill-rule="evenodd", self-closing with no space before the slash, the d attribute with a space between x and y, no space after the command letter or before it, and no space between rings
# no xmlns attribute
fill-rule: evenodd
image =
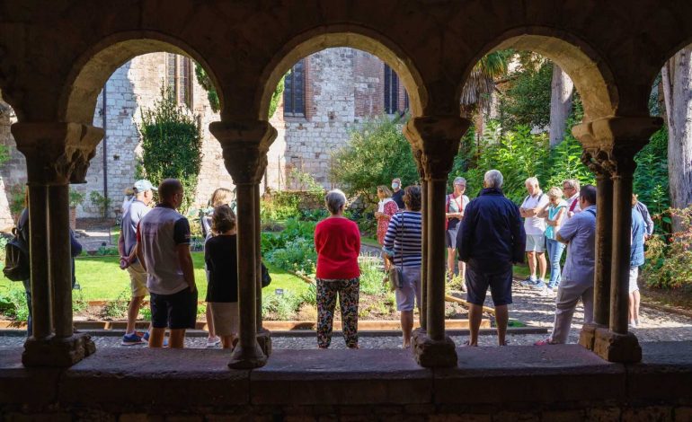
<svg viewBox="0 0 692 422"><path fill-rule="evenodd" d="M409 120L404 135L425 174L426 207L426 321L413 333L413 354L419 365L457 365L451 338L445 335L445 195L459 141L471 122L457 116L426 116Z"/></svg>

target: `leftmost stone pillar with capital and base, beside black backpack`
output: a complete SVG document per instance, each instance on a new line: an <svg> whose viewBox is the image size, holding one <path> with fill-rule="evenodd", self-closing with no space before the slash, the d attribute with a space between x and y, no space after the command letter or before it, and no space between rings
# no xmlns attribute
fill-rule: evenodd
<svg viewBox="0 0 692 422"><path fill-rule="evenodd" d="M73 334L69 241L70 182L84 182L103 131L77 123L15 123L17 149L27 163L31 232L33 335L24 344L25 366L70 366L95 351Z"/></svg>

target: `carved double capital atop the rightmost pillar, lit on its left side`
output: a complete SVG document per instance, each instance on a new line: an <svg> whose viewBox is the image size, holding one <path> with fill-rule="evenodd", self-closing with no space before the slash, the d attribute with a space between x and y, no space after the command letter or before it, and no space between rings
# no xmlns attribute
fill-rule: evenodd
<svg viewBox="0 0 692 422"><path fill-rule="evenodd" d="M662 124L661 118L612 117L572 127L572 134L584 147L581 161L591 171L597 175L631 177L636 168L634 155Z"/></svg>

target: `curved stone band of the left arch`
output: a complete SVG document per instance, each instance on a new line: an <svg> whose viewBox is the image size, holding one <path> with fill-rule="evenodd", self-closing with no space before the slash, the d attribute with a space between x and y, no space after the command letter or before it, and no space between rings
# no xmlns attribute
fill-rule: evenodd
<svg viewBox="0 0 692 422"><path fill-rule="evenodd" d="M113 72L133 57L156 52L180 54L200 63L217 86L223 107L223 92L218 89L217 77L200 54L181 40L160 33L137 31L100 40L75 60L60 95L58 119L92 124L99 92Z"/></svg>

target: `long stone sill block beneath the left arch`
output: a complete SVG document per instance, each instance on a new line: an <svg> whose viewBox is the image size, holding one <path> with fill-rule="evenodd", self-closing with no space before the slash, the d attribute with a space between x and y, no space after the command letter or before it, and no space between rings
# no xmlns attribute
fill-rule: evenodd
<svg viewBox="0 0 692 422"><path fill-rule="evenodd" d="M248 371L230 370L228 352L192 349L105 349L72 366L59 382L66 405L100 403L123 412L247 404ZM164 388L165 394L161 394Z"/></svg>

